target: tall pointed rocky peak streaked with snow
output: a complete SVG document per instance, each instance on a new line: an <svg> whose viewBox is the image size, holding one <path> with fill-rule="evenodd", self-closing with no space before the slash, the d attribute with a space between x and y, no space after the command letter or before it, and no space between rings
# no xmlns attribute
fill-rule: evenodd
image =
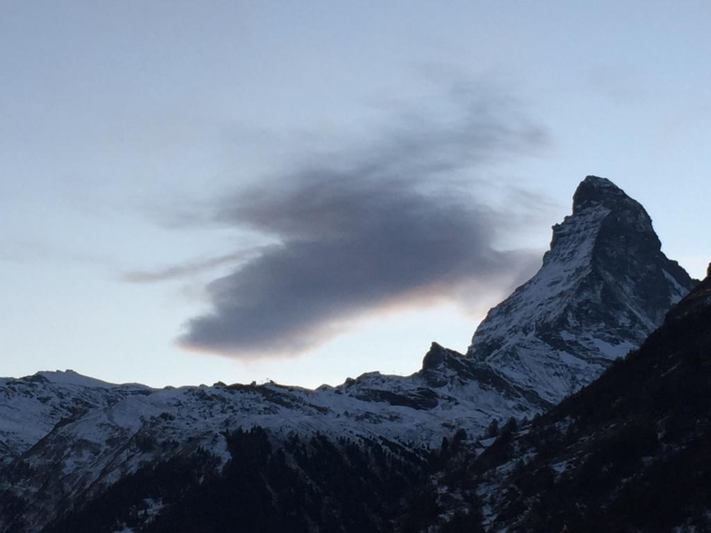
<svg viewBox="0 0 711 533"><path fill-rule="evenodd" d="M538 274L489 311L467 355L556 404L640 345L693 285L644 208L588 176Z"/></svg>

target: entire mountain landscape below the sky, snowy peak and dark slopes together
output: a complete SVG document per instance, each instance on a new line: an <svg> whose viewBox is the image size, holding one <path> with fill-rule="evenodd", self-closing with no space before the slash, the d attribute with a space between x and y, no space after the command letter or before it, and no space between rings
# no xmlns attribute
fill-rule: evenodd
<svg viewBox="0 0 711 533"><path fill-rule="evenodd" d="M0 532L683 527L681 511L653 529L614 506L632 505L631 480L656 502L664 468L705 471L709 290L665 257L640 204L588 176L538 273L466 355L433 343L411 376L316 390L0 379Z"/></svg>

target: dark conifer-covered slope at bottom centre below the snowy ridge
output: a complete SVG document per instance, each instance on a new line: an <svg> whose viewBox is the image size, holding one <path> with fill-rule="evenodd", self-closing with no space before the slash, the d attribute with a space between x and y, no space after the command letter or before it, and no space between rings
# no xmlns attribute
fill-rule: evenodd
<svg viewBox="0 0 711 533"><path fill-rule="evenodd" d="M159 463L44 531L387 531L429 470L428 453L384 439L293 436L275 446L257 427L232 432L228 445L232 458L219 474L209 453Z"/></svg>

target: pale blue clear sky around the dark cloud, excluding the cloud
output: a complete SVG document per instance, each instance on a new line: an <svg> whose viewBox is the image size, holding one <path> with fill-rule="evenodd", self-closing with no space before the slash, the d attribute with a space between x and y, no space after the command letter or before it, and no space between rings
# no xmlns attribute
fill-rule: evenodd
<svg viewBox="0 0 711 533"><path fill-rule="evenodd" d="M507 191L538 198L499 247L542 253L596 174L639 200L665 253L700 277L710 24L706 1L0 2L0 375L316 386L413 372L432 340L464 350L501 286L393 301L298 356L245 360L174 345L234 263L122 278L273 242L178 215L377 148L413 112L447 125L462 84L501 97L497 120L543 132L471 171L474 195L512 217Z"/></svg>

